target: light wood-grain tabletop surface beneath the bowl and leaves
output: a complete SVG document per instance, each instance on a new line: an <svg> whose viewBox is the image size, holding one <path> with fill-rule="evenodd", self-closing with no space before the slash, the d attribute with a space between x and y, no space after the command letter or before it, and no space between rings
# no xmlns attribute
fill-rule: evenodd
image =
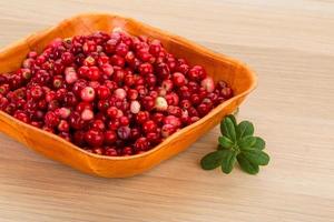
<svg viewBox="0 0 334 222"><path fill-rule="evenodd" d="M256 176L203 171L218 129L130 179L81 174L0 135L0 221L334 221L334 2L0 1L0 47L85 11L134 17L238 58L259 84L240 108L272 157Z"/></svg>

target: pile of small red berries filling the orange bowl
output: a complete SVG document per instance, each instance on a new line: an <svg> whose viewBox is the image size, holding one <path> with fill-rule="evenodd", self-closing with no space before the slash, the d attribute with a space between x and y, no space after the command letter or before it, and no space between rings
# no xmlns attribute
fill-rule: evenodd
<svg viewBox="0 0 334 222"><path fill-rule="evenodd" d="M203 67L121 30L56 39L0 74L0 110L110 157L145 152L230 97Z"/></svg>

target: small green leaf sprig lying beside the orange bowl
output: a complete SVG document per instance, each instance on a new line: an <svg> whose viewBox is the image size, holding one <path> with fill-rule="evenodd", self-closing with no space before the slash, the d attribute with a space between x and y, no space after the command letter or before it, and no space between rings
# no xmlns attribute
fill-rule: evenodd
<svg viewBox="0 0 334 222"><path fill-rule="evenodd" d="M213 170L218 167L224 173L230 173L238 162L242 170L249 174L256 174L259 165L267 165L269 155L263 150L265 141L254 137L254 125L249 121L237 124L234 115L227 115L220 122L222 135L218 138L217 151L206 154L200 160L204 170Z"/></svg>

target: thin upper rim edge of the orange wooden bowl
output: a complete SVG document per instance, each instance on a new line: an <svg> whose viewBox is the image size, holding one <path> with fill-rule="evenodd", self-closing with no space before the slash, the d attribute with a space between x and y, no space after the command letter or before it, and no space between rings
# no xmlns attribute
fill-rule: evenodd
<svg viewBox="0 0 334 222"><path fill-rule="evenodd" d="M257 87L257 77L255 74L255 72L244 62L240 62L239 60L237 59L233 59L228 56L225 56L223 53L219 53L219 52L215 52L210 49L207 49L191 40L188 40L184 37L180 37L180 36L177 36L177 34L173 34L168 31L165 31L165 30L161 30L159 28L155 28L155 27L151 27L147 23L144 23L141 21L138 21L136 19L132 19L132 18L129 18L129 17L125 17L125 16L120 16L118 13L98 13L98 12L95 12L95 13L79 13L79 14L76 14L73 17L70 17L70 18L67 18L67 19L63 19L61 20L60 22L58 22L57 24L50 27L50 28L47 28L47 29L43 29L43 30L40 30L40 31L37 31L32 34L29 34L28 37L21 39L21 40L18 40L17 42L13 42L11 44L9 44L8 47L4 47L2 50L0 50L0 54L2 53L6 53L6 51L9 51L11 49L13 49L14 47L17 46L20 46L22 42L26 42L28 43L28 47L30 49L30 44L29 44L29 40L31 37L38 37L38 36L43 36L43 34L47 34L49 32L52 32L53 30L58 29L59 27L61 27L63 23L70 21L70 20L76 20L76 19L81 19L81 18L85 18L85 17L90 17L90 16L105 16L105 17L114 17L114 18L119 18L119 19L124 19L126 21L129 21L129 22L132 22L132 23L138 23L140 24L144 29L149 29L154 32L159 32L159 33L163 33L165 36L168 36L171 40L174 41L178 41L180 43L183 43L184 46L187 46L187 47L190 47L193 48L195 51L199 52L199 53L203 53L203 54L206 54L206 56L209 56L212 58L215 58L217 60L224 60L224 62L228 62L230 64L237 64L237 65L240 65L243 67L245 70L246 70L246 73L247 73L247 78L250 79L250 84L248 87L248 89L246 89L244 92L237 94L237 95L234 95L230 99L224 101L223 103L220 103L219 105L217 105L216 108L214 108L208 114L206 114L205 117L200 118L198 121L176 131L174 134L171 134L170 137L166 138L163 142L160 142L159 144L157 144L156 147L154 147L153 149L144 152L144 153L139 153L139 154L134 154L134 155L126 155L126 157L109 157L109 155L99 155L99 154L96 154L96 153L91 153L91 152L88 152L86 151L85 149L81 149L79 147L77 147L76 144L60 138L59 135L56 135L51 132L47 132L42 129L39 129L39 128L36 128L36 127L32 127L28 123L24 123L24 122L21 122L19 120L17 120L16 118L13 118L12 115L3 112L3 111L0 111L0 117L3 115L4 118L11 120L12 122L14 122L16 124L18 125L22 125L24 128L28 128L30 130L35 130L35 131L38 131L47 137L50 137L52 139L55 139L57 142L61 142L61 143L65 143L67 144L69 148L71 149L75 149L77 150L78 152L82 153L82 154L86 154L88 157L91 157L91 158L96 158L96 159L102 159L102 160L112 160L112 161L124 161L124 160L131 160L131 159L138 159L138 158L144 158L146 155L150 155L155 152L157 152L158 150L160 150L163 147L165 147L166 143L169 143L171 140L178 138L180 134L183 134L184 132L193 129L193 128L196 128L203 123L205 123L209 118L210 115L213 114L217 114L224 107L227 107L228 104L230 104L232 102L234 102L235 100L248 94L249 92L252 92L256 87Z"/></svg>

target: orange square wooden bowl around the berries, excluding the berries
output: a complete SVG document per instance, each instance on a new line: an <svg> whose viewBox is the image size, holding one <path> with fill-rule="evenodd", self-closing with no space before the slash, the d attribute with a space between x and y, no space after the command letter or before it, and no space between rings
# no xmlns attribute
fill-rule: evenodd
<svg viewBox="0 0 334 222"><path fill-rule="evenodd" d="M106 13L79 14L1 50L0 73L18 69L29 51L42 51L55 38L89 34L97 30L110 32L115 27L120 27L134 36L145 34L159 39L167 50L176 57L187 59L190 64L204 65L215 81L225 80L228 82L235 97L219 104L196 123L167 138L150 151L132 157L112 158L86 152L55 134L20 122L1 111L0 131L46 157L85 173L106 178L131 176L184 151L202 134L218 124L224 115L233 112L256 87L254 72L234 59L134 19Z"/></svg>

